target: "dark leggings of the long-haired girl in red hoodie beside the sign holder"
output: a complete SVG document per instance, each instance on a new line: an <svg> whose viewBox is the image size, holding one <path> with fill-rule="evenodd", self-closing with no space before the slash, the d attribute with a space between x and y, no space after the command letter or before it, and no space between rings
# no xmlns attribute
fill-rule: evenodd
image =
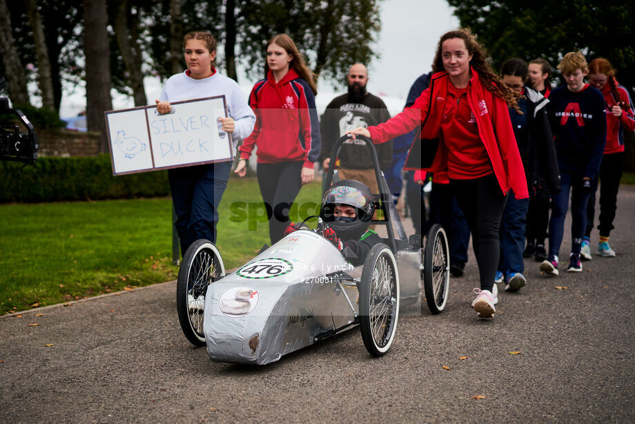
<svg viewBox="0 0 635 424"><path fill-rule="evenodd" d="M302 188L304 162L257 164L258 185L269 221L271 244L282 239L289 225L289 208Z"/></svg>

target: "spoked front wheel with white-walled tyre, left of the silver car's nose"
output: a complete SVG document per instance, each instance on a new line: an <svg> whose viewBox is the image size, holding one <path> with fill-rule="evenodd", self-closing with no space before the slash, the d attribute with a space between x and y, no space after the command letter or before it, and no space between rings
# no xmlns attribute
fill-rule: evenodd
<svg viewBox="0 0 635 424"><path fill-rule="evenodd" d="M177 311L186 338L195 346L205 345L203 316L207 286L225 276L225 265L212 242L196 240L188 247L179 268Z"/></svg>

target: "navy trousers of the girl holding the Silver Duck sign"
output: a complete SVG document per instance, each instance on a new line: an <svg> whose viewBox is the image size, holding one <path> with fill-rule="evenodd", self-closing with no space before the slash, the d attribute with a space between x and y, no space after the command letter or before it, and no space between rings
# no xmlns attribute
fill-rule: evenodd
<svg viewBox="0 0 635 424"><path fill-rule="evenodd" d="M230 170L231 162L168 170L182 255L199 238L216 242L218 204Z"/></svg>

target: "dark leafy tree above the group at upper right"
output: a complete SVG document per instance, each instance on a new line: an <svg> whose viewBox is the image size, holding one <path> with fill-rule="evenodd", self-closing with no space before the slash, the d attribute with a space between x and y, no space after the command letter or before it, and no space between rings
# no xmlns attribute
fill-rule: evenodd
<svg viewBox="0 0 635 424"><path fill-rule="evenodd" d="M462 26L478 35L494 69L510 57L543 57L554 67L567 52L605 57L618 79L635 87L635 2L623 0L448 0Z"/></svg>

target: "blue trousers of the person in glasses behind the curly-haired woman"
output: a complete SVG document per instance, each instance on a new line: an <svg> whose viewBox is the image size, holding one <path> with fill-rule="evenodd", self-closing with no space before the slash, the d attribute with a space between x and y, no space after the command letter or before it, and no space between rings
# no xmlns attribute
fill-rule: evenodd
<svg viewBox="0 0 635 424"><path fill-rule="evenodd" d="M507 195L505 210L500 220L500 260L498 271L506 276L510 272L525 271L522 251L525 249L525 227L527 226L527 210L529 199L516 199L510 190Z"/></svg>

